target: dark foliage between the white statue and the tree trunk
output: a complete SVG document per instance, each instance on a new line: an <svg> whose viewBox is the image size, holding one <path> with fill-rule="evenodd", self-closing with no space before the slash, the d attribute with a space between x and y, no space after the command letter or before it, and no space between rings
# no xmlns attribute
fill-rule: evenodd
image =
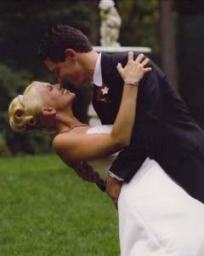
<svg viewBox="0 0 204 256"><path fill-rule="evenodd" d="M122 17L119 39L122 46L150 47L151 56L157 59L160 53L158 1L118 0L116 6Z"/></svg>

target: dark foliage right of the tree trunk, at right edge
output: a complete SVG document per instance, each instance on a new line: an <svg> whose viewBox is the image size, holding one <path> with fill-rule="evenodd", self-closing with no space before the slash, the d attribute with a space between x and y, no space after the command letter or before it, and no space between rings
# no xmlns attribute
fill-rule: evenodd
<svg viewBox="0 0 204 256"><path fill-rule="evenodd" d="M204 2L180 0L178 10L177 46L180 93L195 120L204 128Z"/></svg>

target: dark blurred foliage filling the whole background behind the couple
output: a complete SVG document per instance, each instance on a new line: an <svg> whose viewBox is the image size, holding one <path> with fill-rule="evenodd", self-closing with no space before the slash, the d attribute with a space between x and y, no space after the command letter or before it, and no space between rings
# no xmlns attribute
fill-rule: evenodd
<svg viewBox="0 0 204 256"><path fill-rule="evenodd" d="M158 0L116 0L115 3L122 17L120 43L150 47L150 58L161 66ZM0 155L48 152L52 150L50 138L37 132L18 135L10 130L8 104L32 80L56 81L37 60L38 46L49 26L59 23L75 26L88 35L92 44L99 45L99 0L0 0L0 5ZM203 1L173 1L179 91L201 127L204 127L203 14ZM77 94L74 104L77 118L88 122L91 99L88 84L83 90L74 89L71 84L65 86Z"/></svg>

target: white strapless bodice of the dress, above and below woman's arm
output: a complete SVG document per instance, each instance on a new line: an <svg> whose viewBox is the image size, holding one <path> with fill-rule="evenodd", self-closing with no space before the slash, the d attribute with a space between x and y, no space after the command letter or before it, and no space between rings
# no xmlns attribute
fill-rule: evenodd
<svg viewBox="0 0 204 256"><path fill-rule="evenodd" d="M112 125L97 125L89 128L87 131L87 134L93 134L93 133L110 134L111 130L112 130ZM100 178L102 178L103 180L106 180L109 169L113 161L116 159L117 154L118 153L110 154L108 156L100 158L99 160L88 161L88 164L90 166L93 166L94 171L99 173Z"/></svg>

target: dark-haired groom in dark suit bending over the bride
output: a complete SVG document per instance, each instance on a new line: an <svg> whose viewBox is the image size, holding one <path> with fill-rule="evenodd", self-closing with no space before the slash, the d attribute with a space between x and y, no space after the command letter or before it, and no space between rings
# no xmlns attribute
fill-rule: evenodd
<svg viewBox="0 0 204 256"><path fill-rule="evenodd" d="M138 55L134 53L135 58ZM59 83L82 87L86 80L93 82L93 106L101 123L114 123L123 87L116 66L126 65L127 53L98 54L82 32L59 25L45 33L38 57ZM192 197L204 202L204 133L161 69L153 61L147 67L152 72L139 83L133 137L111 166L106 192L116 204L122 183L128 183L149 156Z"/></svg>

